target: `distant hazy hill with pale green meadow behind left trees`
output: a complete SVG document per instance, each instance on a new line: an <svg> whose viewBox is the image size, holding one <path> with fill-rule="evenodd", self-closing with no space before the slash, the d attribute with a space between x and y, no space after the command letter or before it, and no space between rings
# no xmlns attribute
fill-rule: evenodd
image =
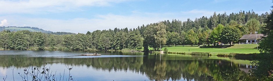
<svg viewBox="0 0 273 81"><path fill-rule="evenodd" d="M75 34L75 33L70 33L70 32L52 32L52 31L46 31L38 27L16 27L16 26L8 26L8 27L1 27L0 26L0 31L3 30L10 30L10 31L20 31L20 30L28 30L30 32L43 32L43 33L50 33L50 34L57 34L57 35L62 35L62 34Z"/></svg>

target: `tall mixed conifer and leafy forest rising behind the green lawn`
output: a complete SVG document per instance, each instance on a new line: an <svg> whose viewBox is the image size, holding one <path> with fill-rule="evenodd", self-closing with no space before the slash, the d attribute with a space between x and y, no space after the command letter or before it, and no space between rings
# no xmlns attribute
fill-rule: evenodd
<svg viewBox="0 0 273 81"><path fill-rule="evenodd" d="M264 31L265 21L269 14L258 15L252 11L240 11L227 15L214 14L209 18L202 16L194 21L163 21L167 26L166 45L193 45L237 42L244 34Z"/></svg>

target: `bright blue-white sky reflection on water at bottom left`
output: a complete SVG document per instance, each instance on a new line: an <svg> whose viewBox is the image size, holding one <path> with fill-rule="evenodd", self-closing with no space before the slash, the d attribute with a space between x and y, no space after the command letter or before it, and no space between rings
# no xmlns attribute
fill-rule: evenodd
<svg viewBox="0 0 273 81"><path fill-rule="evenodd" d="M63 76L63 72L65 70L64 79L68 78L69 71L68 69L66 69L66 65L57 63L57 64L52 64L52 65L50 64L46 66L51 68L50 70L53 71L52 73L55 74L55 71L56 71L57 78L60 78L60 73ZM69 67L71 66L69 65ZM20 74L23 74L24 72L23 69L25 68L15 68L14 70L15 81L21 80L18 72L20 72ZM6 77L6 75L8 75L6 81L13 80L12 69L13 67L10 67L10 68L0 67L0 71L1 71L0 77L3 78L3 77ZM129 69L127 71L125 70L114 71L114 69L109 71L109 70L95 69L93 67L77 65L77 66L73 66L73 69L70 71L70 73L72 77L75 78L76 81L90 81L90 80L92 81L147 80L148 81L149 80L145 74L136 73L134 71L130 71Z"/></svg>

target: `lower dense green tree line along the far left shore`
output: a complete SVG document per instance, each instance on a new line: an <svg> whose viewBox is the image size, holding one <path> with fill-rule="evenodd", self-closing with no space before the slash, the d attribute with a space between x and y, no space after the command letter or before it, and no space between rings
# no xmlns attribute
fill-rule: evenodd
<svg viewBox="0 0 273 81"><path fill-rule="evenodd" d="M127 28L64 35L4 30L0 32L0 46L15 50L142 49L143 38L138 29Z"/></svg>

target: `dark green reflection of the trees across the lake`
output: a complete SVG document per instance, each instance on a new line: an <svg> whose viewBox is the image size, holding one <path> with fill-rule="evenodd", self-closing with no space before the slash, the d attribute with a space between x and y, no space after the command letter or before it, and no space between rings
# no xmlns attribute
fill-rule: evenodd
<svg viewBox="0 0 273 81"><path fill-rule="evenodd" d="M160 54L150 54L143 57L112 58L51 58L2 55L0 57L0 66L9 68L13 65L15 67L28 67L31 63L34 63L35 66L41 66L44 63L61 63L87 66L109 72L129 70L146 75L150 80L238 81L265 77L256 76L261 74L261 69L263 69L258 67L265 65L270 67L273 65L272 60L267 60L266 62L259 60L260 66L252 70L252 75L250 75L250 73L244 71L253 68L251 65L242 65L228 60L200 58L209 57L168 55L161 55L160 57ZM33 62L34 59L35 61ZM264 71L263 73L266 74Z"/></svg>

